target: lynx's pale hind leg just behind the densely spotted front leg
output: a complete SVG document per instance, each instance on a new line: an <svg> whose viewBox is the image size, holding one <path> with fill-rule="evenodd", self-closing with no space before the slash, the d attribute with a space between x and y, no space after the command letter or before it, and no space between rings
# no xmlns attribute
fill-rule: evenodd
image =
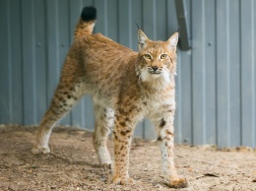
<svg viewBox="0 0 256 191"><path fill-rule="evenodd" d="M96 128L94 133L94 147L99 164L109 167L111 158L107 151L106 142L113 126L114 111L109 107L102 107L95 101Z"/></svg>

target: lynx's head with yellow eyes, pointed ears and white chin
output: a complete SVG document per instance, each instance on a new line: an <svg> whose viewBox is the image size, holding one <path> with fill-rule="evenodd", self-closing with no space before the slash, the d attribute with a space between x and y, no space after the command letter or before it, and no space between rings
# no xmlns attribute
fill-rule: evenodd
<svg viewBox="0 0 256 191"><path fill-rule="evenodd" d="M178 32L166 41L150 40L141 30L138 32L138 37L139 53L136 72L140 81L153 86L169 84L176 70Z"/></svg>

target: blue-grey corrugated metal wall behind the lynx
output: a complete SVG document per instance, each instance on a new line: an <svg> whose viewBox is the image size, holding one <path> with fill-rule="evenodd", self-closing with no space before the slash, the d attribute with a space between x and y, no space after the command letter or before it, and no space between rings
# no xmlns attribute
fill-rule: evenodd
<svg viewBox="0 0 256 191"><path fill-rule="evenodd" d="M185 3L192 49L178 51L175 141L255 147L256 2ZM39 122L86 5L97 8L96 32L135 50L135 22L160 40L178 26L174 0L1 0L0 123ZM92 110L87 96L61 123L93 129ZM136 135L153 132L146 120Z"/></svg>

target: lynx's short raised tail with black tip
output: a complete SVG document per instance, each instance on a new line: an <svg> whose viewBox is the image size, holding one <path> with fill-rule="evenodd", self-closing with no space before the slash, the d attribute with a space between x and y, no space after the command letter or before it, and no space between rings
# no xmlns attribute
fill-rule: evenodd
<svg viewBox="0 0 256 191"><path fill-rule="evenodd" d="M91 34L94 31L96 24L96 8L85 7L82 11L80 20L75 30L75 38L81 37L87 34Z"/></svg>

